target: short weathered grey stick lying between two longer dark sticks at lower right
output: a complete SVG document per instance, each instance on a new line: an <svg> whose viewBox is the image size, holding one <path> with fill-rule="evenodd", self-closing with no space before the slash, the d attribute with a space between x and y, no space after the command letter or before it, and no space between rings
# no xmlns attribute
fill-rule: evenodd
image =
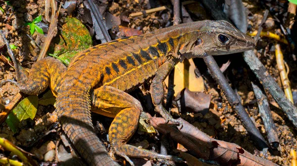
<svg viewBox="0 0 297 166"><path fill-rule="evenodd" d="M260 85L257 85L256 83L251 82L251 86L254 91L255 97L257 99L259 112L262 117L265 130L267 132L267 138L270 143L270 146L274 149L277 149L279 146L280 140L278 138L278 133L272 118L267 97L264 95L263 91L259 88Z"/></svg>

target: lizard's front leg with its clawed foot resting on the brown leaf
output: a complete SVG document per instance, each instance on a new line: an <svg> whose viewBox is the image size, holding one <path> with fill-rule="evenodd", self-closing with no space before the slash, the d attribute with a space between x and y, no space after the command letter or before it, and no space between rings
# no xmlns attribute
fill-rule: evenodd
<svg viewBox="0 0 297 166"><path fill-rule="evenodd" d="M173 66L173 61L167 61L158 68L158 71L156 72L150 84L150 95L156 112L160 113L160 115L167 122L172 121L173 123L178 123L180 126L182 126L182 122L180 120L174 119L162 105L164 97L163 81L165 80L169 72L172 70Z"/></svg>

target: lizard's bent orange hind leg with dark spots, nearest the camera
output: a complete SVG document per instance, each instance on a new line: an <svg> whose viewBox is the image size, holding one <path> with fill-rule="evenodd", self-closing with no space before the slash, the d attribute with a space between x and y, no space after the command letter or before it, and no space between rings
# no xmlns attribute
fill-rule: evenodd
<svg viewBox="0 0 297 166"><path fill-rule="evenodd" d="M92 111L114 117L108 131L111 148L116 155L125 158L131 166L134 166L134 164L129 157L182 161L182 159L175 156L160 155L127 144L138 128L142 112L138 100L111 86L102 86L95 89L92 97Z"/></svg>

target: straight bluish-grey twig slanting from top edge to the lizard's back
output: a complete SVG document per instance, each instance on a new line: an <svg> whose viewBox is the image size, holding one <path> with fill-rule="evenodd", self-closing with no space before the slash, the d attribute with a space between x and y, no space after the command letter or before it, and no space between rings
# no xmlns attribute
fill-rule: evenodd
<svg viewBox="0 0 297 166"><path fill-rule="evenodd" d="M105 40L107 42L110 42L111 38L110 38L110 36L108 34L108 31L107 31L106 27L104 26L104 24L102 22L103 17L100 14L99 9L95 6L93 0L88 0L88 2L90 4L91 10L92 10L92 12L93 12L93 14L94 14L94 16L96 18L96 21L97 21L97 23L98 23L98 25L99 25L99 27L101 29L101 32L102 32Z"/></svg>

